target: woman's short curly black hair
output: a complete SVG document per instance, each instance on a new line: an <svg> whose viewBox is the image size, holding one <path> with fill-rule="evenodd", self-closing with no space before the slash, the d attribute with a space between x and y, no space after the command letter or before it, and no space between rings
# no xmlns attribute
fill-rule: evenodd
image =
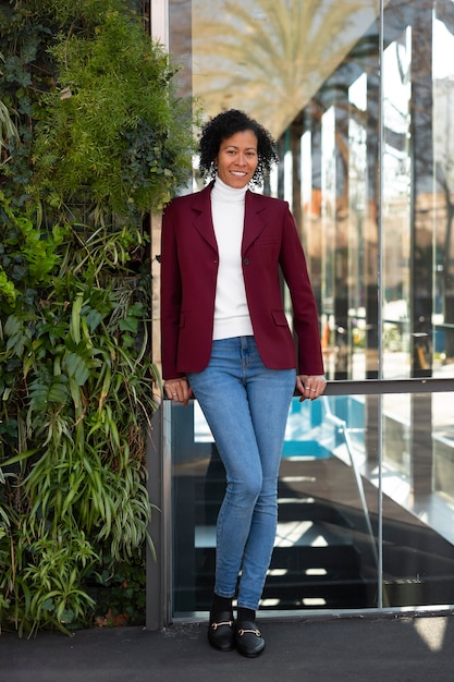
<svg viewBox="0 0 454 682"><path fill-rule="evenodd" d="M199 171L203 176L216 176L214 159L219 154L222 141L243 131L253 131L257 137L258 163L250 184L260 185L262 183L263 176L269 173L271 166L279 162L275 143L271 134L260 123L238 109L222 111L204 125L199 142Z"/></svg>

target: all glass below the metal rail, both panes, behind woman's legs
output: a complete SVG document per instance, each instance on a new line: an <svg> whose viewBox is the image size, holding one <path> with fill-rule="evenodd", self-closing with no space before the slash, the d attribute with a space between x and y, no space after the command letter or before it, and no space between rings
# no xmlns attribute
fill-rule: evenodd
<svg viewBox="0 0 454 682"><path fill-rule="evenodd" d="M432 410L433 404L433 410ZM383 424L383 607L454 601L454 429L446 394L294 399L261 610L378 605L377 423ZM206 611L225 480L196 402L171 411L174 614ZM433 415L433 418L432 418Z"/></svg>

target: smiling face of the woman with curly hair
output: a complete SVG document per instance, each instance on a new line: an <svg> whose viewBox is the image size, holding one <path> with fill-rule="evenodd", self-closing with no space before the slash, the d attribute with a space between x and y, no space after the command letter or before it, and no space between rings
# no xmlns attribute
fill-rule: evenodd
<svg viewBox="0 0 454 682"><path fill-rule="evenodd" d="M253 179L258 163L257 136L253 131L241 131L223 139L216 157L219 178L237 190Z"/></svg>

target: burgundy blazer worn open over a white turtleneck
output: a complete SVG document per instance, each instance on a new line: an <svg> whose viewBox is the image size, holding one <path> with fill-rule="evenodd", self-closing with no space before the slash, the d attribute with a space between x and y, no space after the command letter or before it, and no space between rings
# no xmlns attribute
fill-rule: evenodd
<svg viewBox="0 0 454 682"><path fill-rule="evenodd" d="M164 209L161 243L162 376L200 372L211 354L219 253L211 219L212 183ZM246 192L243 275L263 364L322 375L316 302L289 204ZM293 304L297 352L281 295L279 266Z"/></svg>

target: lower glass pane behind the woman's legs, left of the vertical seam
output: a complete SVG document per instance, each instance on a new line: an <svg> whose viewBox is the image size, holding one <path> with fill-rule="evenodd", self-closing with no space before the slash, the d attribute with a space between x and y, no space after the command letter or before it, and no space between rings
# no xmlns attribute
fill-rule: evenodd
<svg viewBox="0 0 454 682"><path fill-rule="evenodd" d="M197 402L171 411L174 614L209 609L225 475ZM293 399L279 524L260 609L377 606L377 489L361 477L365 400ZM372 510L372 511L371 511Z"/></svg>

